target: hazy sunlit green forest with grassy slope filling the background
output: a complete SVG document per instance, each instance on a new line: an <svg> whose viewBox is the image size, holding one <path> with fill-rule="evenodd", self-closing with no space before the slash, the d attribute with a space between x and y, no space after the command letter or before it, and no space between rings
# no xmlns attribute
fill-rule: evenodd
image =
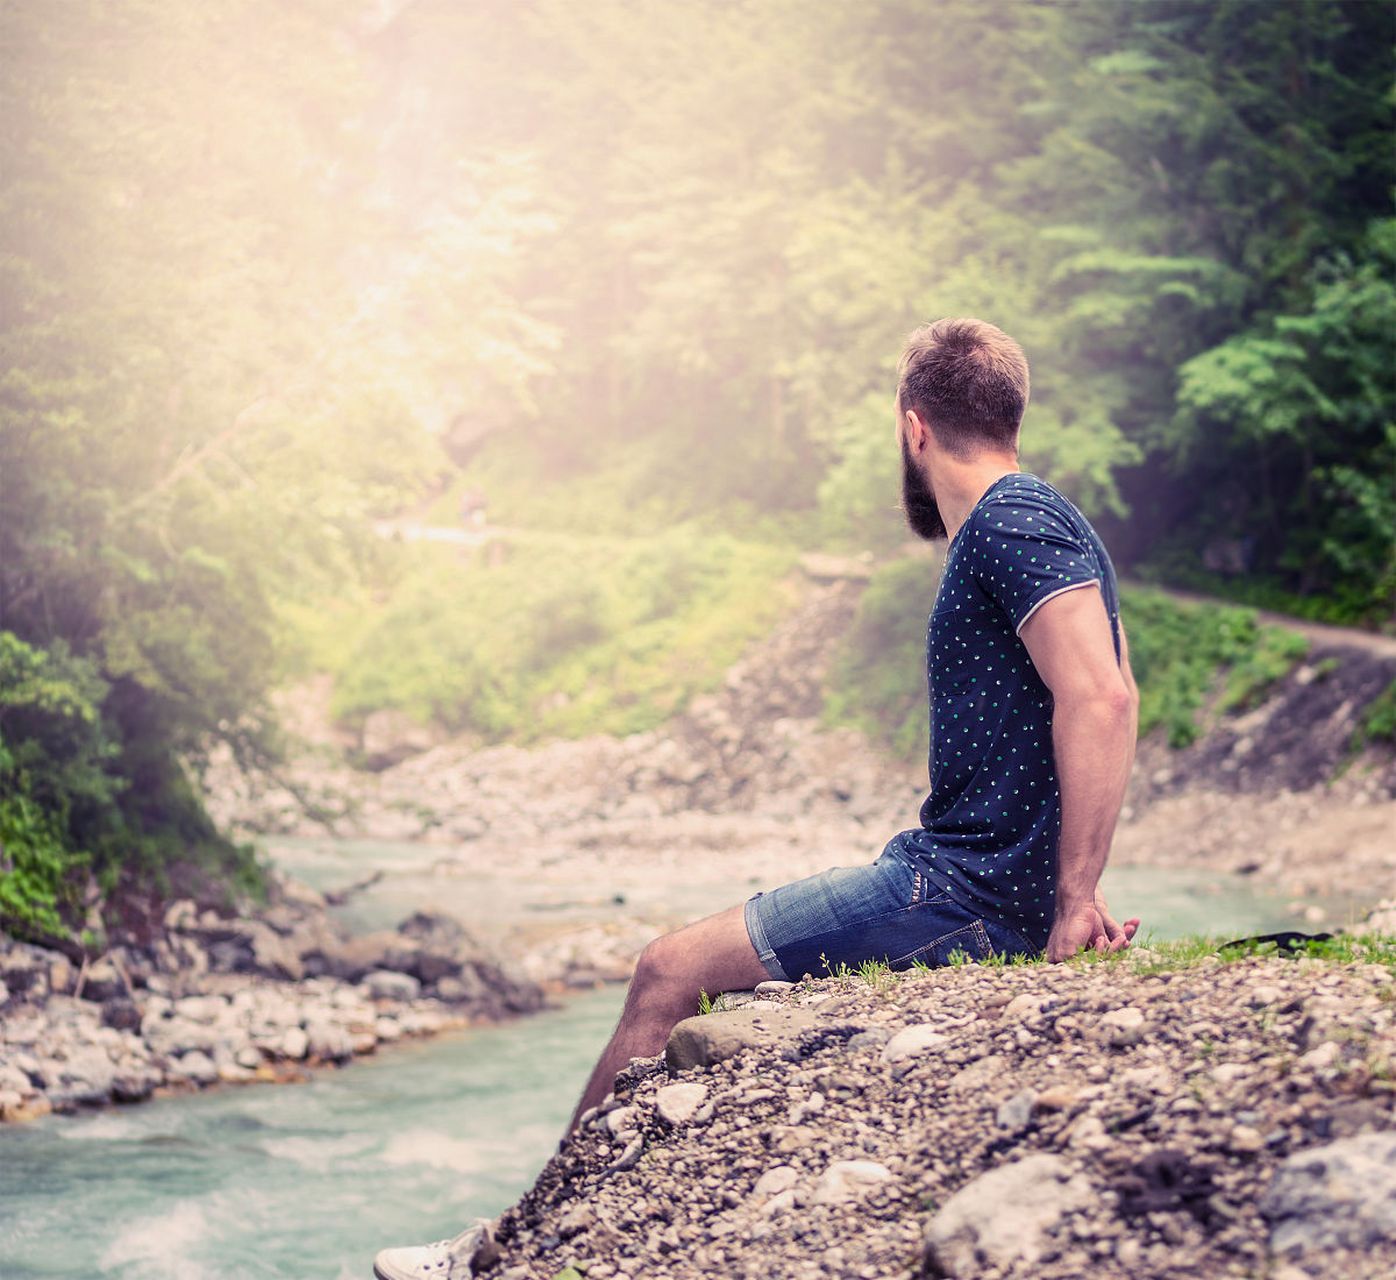
<svg viewBox="0 0 1396 1280"><path fill-rule="evenodd" d="M0 925L255 891L201 762L275 769L309 671L482 741L671 713L801 551L895 563L940 315L1023 345L1124 575L1389 630L1393 14L4 6ZM507 554L383 536L482 503Z"/></svg>

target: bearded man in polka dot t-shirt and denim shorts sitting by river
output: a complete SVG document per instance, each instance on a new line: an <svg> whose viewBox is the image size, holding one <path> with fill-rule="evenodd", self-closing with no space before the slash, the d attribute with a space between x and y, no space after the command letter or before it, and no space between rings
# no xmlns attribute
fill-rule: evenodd
<svg viewBox="0 0 1396 1280"><path fill-rule="evenodd" d="M906 969L956 951L984 960L1046 948L1064 960L1129 945L1139 921L1118 924L1099 882L1139 698L1104 546L1067 498L1018 468L1027 389L1022 349L979 320L917 329L898 366L906 519L920 537L949 540L927 635L921 825L871 864L757 893L651 942L570 1128L631 1058L663 1050L699 991L868 959ZM451 1252L385 1251L378 1276L444 1274L436 1259Z"/></svg>

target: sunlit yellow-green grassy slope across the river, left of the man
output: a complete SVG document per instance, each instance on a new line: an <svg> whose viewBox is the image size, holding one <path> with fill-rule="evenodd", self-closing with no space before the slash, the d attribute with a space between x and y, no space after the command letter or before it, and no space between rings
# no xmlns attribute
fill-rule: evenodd
<svg viewBox="0 0 1396 1280"><path fill-rule="evenodd" d="M343 723L392 709L489 743L653 729L794 595L793 547L687 528L385 554L376 586L285 606L297 673L334 677Z"/></svg>

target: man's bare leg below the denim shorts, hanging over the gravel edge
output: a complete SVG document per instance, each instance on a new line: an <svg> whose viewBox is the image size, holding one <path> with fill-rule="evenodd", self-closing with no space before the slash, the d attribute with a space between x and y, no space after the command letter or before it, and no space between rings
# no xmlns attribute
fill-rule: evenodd
<svg viewBox="0 0 1396 1280"><path fill-rule="evenodd" d="M698 1012L699 991L709 995L741 991L769 976L747 935L740 905L655 938L639 953L620 1022L592 1071L567 1132L577 1128L577 1118L584 1111L610 1093L616 1072L631 1058L658 1054L674 1025Z"/></svg>

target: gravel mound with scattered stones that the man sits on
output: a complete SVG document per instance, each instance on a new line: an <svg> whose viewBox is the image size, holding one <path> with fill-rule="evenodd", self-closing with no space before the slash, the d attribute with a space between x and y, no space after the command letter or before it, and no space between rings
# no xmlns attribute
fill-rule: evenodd
<svg viewBox="0 0 1396 1280"><path fill-rule="evenodd" d="M1396 1274L1369 956L764 984L621 1072L451 1277Z"/></svg>

